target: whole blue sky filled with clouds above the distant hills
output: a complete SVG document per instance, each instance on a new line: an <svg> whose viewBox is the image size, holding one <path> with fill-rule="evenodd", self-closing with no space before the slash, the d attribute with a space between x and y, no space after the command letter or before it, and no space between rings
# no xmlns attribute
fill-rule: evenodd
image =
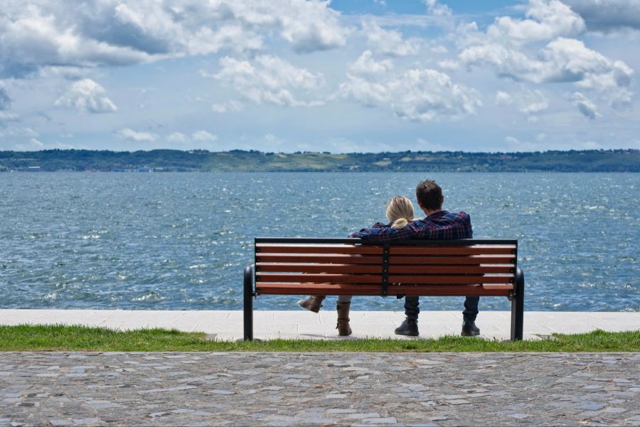
<svg viewBox="0 0 640 427"><path fill-rule="evenodd" d="M640 0L4 0L0 150L640 148Z"/></svg>

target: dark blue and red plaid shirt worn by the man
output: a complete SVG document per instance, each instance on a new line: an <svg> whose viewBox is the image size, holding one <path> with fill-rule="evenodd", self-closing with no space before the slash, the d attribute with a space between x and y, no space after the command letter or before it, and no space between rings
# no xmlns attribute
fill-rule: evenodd
<svg viewBox="0 0 640 427"><path fill-rule="evenodd" d="M380 222L372 227L363 228L349 237L360 237L380 242L398 242L411 239L471 239L471 218L465 212L448 212L441 210L432 213L424 220L415 220L407 227L396 229Z"/></svg>

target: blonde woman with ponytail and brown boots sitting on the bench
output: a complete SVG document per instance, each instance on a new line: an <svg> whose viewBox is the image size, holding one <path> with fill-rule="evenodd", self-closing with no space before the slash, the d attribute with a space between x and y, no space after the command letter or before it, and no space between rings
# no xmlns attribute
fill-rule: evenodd
<svg viewBox="0 0 640 427"><path fill-rule="evenodd" d="M413 204L411 200L397 195L387 203L387 217L390 224L382 224L376 222L372 227L393 227L405 228L410 221L413 220ZM309 296L304 300L298 301L298 305L302 308L318 313L322 307L322 301L326 298L323 295ZM351 327L349 326L349 306L351 306L351 295L338 296L338 335L351 335Z"/></svg>

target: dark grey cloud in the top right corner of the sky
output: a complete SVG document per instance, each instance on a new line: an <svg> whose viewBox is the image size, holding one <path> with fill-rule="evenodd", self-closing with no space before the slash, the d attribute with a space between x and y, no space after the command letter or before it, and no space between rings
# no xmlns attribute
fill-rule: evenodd
<svg viewBox="0 0 640 427"><path fill-rule="evenodd" d="M637 0L562 0L580 13L589 31L640 30L640 1Z"/></svg>

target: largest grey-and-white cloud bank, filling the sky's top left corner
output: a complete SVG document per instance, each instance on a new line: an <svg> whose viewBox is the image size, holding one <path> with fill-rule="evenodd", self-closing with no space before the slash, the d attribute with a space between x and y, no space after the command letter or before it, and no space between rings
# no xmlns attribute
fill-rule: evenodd
<svg viewBox="0 0 640 427"><path fill-rule="evenodd" d="M350 32L320 0L14 0L2 9L0 77L254 51L274 36L308 53L340 47Z"/></svg>

